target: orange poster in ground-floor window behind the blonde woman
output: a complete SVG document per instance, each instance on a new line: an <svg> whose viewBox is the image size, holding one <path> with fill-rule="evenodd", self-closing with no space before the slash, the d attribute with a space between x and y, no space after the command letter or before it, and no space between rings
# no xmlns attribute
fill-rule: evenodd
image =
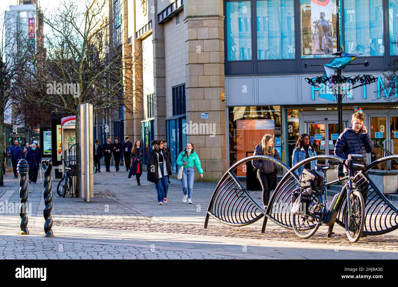
<svg viewBox="0 0 398 287"><path fill-rule="evenodd" d="M240 161L246 153L253 155L254 147L258 145L265 134L275 136L274 120L236 120L236 156ZM236 169L238 176L246 176L246 169L251 168L251 163L246 163ZM249 166L250 165L250 166Z"/></svg>

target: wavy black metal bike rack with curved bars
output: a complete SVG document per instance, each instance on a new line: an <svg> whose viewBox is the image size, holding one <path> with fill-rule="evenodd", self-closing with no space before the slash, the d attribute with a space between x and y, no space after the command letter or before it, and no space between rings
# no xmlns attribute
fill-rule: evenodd
<svg viewBox="0 0 398 287"><path fill-rule="evenodd" d="M287 171L269 199L266 210L262 208L262 204L258 204L250 196L233 173L239 165L253 159L272 161ZM217 184L207 208L204 228L207 228L210 217L225 225L236 227L250 225L264 217L261 233L265 232L268 219L283 228L293 230L293 215L290 213L290 209L285 208L283 210L280 207L291 204L291 192L297 187L298 182L295 171L310 161L322 159L343 161L340 157L333 155L317 155L300 161L292 168L273 157L263 155L250 156L238 161L228 169ZM365 200L365 226L363 230L365 235L380 235L398 229L398 209L378 190L366 174L367 171L379 164L397 160L398 155L382 157L367 165L366 171L358 173L354 178L354 182ZM343 186L343 188L346 187ZM336 223L343 228L345 228L344 207L345 204L342 204L336 217Z"/></svg>

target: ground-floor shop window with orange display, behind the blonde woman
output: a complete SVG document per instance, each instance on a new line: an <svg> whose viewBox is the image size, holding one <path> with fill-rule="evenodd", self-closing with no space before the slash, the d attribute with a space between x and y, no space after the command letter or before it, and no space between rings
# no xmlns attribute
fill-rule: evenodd
<svg viewBox="0 0 398 287"><path fill-rule="evenodd" d="M273 135L275 149L284 158L282 120L280 106L230 107L229 108L229 157L230 166L251 156L254 147L265 134ZM238 167L237 176L246 176L252 166ZM279 170L279 174L283 171Z"/></svg>

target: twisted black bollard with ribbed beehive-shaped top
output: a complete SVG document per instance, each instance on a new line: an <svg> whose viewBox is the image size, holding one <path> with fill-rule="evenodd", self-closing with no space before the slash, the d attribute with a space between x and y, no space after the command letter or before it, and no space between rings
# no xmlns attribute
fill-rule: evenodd
<svg viewBox="0 0 398 287"><path fill-rule="evenodd" d="M20 229L21 229L21 234L29 234L29 230L27 229L27 215L26 215L26 209L28 206L27 203L27 182L26 182L26 175L29 172L29 165L27 164L27 161L25 159L21 159L18 162L18 173L20 175L20 217L21 217L21 223L20 223Z"/></svg>

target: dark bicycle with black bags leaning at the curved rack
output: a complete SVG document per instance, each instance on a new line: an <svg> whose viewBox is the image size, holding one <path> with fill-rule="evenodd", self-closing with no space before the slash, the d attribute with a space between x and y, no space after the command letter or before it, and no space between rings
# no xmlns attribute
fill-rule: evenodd
<svg viewBox="0 0 398 287"><path fill-rule="evenodd" d="M337 165L343 163L336 162ZM313 188L312 199L309 201L309 206L302 215L293 215L293 229L299 238L310 238L316 233L320 225L327 226L334 225L336 216L341 209L346 198L346 204L343 209L343 218L345 221L345 230L347 237L351 242L357 242L362 235L365 224L365 202L359 189L356 188L354 177L351 170L348 170L348 176L334 180L326 184L326 171L328 169L336 169L335 166L315 166L316 171L320 171L324 175L323 186L320 190ZM362 171L359 171L361 173ZM327 185L335 184L344 181L346 188L341 189L341 192L336 194L330 206L327 206ZM328 233L328 237L331 233Z"/></svg>

